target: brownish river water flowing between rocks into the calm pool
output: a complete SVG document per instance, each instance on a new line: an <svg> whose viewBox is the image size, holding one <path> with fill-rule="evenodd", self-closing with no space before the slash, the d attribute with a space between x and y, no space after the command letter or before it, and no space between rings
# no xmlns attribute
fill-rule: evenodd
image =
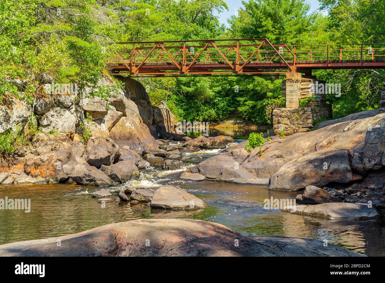
<svg viewBox="0 0 385 283"><path fill-rule="evenodd" d="M204 158L219 150L198 152ZM195 163L197 153L187 153ZM0 210L0 244L48 238L77 233L104 224L139 218L191 218L223 224L244 235L280 235L312 238L344 246L370 256L385 255L385 223L382 220L346 221L303 217L278 209L264 209L264 199L291 199L295 192L269 191L264 186L240 185L179 179L181 170L163 171L150 168L141 171L137 181L107 188L157 188L162 184L181 186L209 204L196 211L163 211L149 204L106 203L102 208L92 198L96 187L75 191L78 185L0 185L0 199L31 199L31 211ZM112 196L111 198L115 198Z"/></svg>

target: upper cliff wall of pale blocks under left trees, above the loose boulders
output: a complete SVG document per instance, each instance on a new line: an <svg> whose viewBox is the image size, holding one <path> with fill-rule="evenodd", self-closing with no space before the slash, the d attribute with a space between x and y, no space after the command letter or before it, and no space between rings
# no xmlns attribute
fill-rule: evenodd
<svg viewBox="0 0 385 283"><path fill-rule="evenodd" d="M112 93L107 100L92 97L90 89L77 94L40 91L33 109L39 131L64 134L79 141L80 124L86 124L92 136L110 137L113 127L125 117L125 122L134 124L134 128L140 126L141 131L151 131L154 138L166 131L175 132L175 117L165 104L152 107L140 82L130 78L121 80L124 90ZM96 87L104 85L112 85L110 77L104 76ZM0 134L10 129L22 129L31 113L32 106L25 99L5 99L0 105ZM92 122L85 119L87 115L92 117Z"/></svg>

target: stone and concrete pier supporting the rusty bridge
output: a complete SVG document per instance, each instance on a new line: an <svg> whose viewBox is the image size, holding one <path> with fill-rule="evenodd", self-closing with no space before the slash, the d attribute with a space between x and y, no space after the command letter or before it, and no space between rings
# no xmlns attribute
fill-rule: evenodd
<svg viewBox="0 0 385 283"><path fill-rule="evenodd" d="M286 108L273 111L273 129L278 135L291 135L313 129L314 121L333 117L331 104L326 103L325 81L313 75L292 73L282 81L282 95Z"/></svg>

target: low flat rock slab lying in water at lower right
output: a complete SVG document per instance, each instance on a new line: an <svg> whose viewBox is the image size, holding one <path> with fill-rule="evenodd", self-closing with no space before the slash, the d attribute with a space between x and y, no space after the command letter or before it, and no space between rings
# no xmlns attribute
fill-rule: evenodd
<svg viewBox="0 0 385 283"><path fill-rule="evenodd" d="M344 218L348 220L364 220L378 217L375 208L368 208L367 204L357 203L321 203L315 205L286 206L283 211L295 211L296 214L319 218Z"/></svg>

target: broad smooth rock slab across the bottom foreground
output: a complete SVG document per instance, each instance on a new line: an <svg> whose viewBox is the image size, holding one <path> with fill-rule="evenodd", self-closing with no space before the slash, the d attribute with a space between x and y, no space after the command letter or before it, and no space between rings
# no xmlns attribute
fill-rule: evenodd
<svg viewBox="0 0 385 283"><path fill-rule="evenodd" d="M57 238L0 246L0 256L304 255L362 256L333 244L325 247L317 240L245 237L221 224L193 219L138 219Z"/></svg>

